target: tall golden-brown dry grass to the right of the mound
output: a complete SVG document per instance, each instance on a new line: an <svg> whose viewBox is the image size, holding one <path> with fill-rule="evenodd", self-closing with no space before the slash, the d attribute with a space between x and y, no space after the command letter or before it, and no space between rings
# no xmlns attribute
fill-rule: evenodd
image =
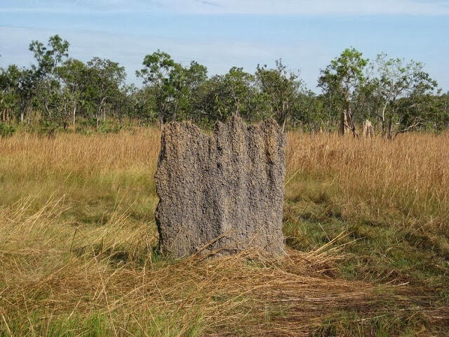
<svg viewBox="0 0 449 337"><path fill-rule="evenodd" d="M374 215L383 212L396 224L400 219L401 225L410 225L410 216L416 216L441 225L449 216L448 145L449 133L408 133L393 142L290 133L288 179L298 173L315 180L331 178L330 187L337 188L350 214L363 209ZM287 193L296 192L292 185Z"/></svg>

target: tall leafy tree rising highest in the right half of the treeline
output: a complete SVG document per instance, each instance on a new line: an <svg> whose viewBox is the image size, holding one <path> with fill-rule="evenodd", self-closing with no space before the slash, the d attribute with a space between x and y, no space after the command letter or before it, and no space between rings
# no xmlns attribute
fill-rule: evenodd
<svg viewBox="0 0 449 337"><path fill-rule="evenodd" d="M340 133L344 134L345 128L358 136L355 127L355 114L351 105L354 103L354 93L365 80L363 70L368 64L368 59L356 48L345 49L338 58L330 62L326 69L321 70L318 86L323 89L325 95L333 95L342 105L340 118Z"/></svg>

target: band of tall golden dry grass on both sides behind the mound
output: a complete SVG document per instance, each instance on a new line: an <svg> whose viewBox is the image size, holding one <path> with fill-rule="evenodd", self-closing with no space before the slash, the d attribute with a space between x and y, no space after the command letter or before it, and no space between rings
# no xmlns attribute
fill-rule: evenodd
<svg viewBox="0 0 449 337"><path fill-rule="evenodd" d="M49 176L59 180L102 174L110 174L109 183L114 185L120 183L114 178L119 180L120 173L130 171L152 178L159 154L156 129L108 136L62 134L56 139L26 134L0 142L4 179L22 179L23 185L26 180L43 182ZM389 209L405 218L414 213L445 220L449 215L448 144L449 133L410 133L394 142L290 133L286 194L297 193L297 185L307 177L337 188L349 213L358 213L362 207L373 213ZM9 192L15 194L11 201L19 199L17 194L29 195ZM388 215L397 220L397 214Z"/></svg>

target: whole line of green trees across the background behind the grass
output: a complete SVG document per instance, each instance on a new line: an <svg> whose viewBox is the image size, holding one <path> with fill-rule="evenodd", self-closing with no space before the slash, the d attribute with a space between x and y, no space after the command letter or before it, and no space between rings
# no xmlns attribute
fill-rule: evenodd
<svg viewBox="0 0 449 337"><path fill-rule="evenodd" d="M363 58L347 48L321 70L316 94L298 72L276 61L257 65L253 74L232 67L208 77L207 68L192 61L181 65L163 51L146 55L136 75L143 86L126 84L119 63L69 57L69 43L58 35L47 44L32 41L30 67L0 68L0 132L17 124L40 124L51 130L68 126L101 130L114 121L140 125L189 119L212 126L237 113L248 122L275 118L284 128L349 132L370 120L382 134L449 126L449 95L422 63L377 55ZM109 123L109 124L108 124Z"/></svg>

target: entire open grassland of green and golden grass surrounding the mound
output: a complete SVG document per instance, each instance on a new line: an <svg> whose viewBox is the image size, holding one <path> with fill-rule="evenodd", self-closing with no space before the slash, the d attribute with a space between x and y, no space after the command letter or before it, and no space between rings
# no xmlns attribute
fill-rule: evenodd
<svg viewBox="0 0 449 337"><path fill-rule="evenodd" d="M288 135L288 255L154 249L159 131L0 139L0 336L445 336L449 134Z"/></svg>

